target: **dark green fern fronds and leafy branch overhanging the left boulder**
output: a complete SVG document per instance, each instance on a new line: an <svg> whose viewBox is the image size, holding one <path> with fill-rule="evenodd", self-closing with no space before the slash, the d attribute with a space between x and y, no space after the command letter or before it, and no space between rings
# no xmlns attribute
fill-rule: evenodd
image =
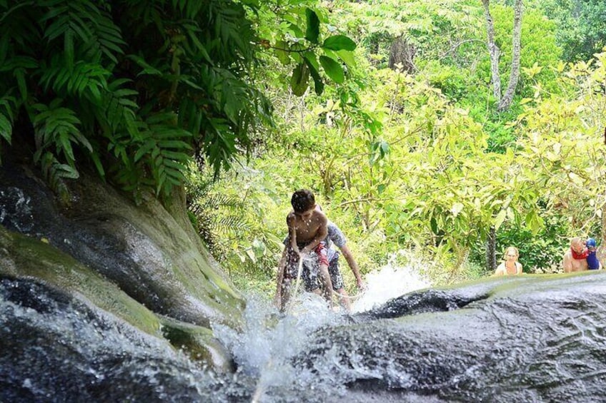
<svg viewBox="0 0 606 403"><path fill-rule="evenodd" d="M320 65L342 83L342 63L353 61L354 42L295 3L0 2L0 138L10 144L17 123L31 126L34 160L50 164L49 175L74 178L90 164L135 196L168 195L193 155L216 175L271 123L271 104L249 79L264 34L278 32L277 56L296 62L299 94L310 74L322 92ZM277 14L277 31L253 25Z"/></svg>

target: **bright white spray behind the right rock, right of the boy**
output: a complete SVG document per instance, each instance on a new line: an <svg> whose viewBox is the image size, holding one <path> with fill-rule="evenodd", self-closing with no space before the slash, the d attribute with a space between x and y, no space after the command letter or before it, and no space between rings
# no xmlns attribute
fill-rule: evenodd
<svg viewBox="0 0 606 403"><path fill-rule="evenodd" d="M398 265L397 258L406 263ZM420 260L414 252L400 250L389 258L387 265L366 276L367 290L352 304L352 312L364 312L407 292L431 287L421 273L431 263Z"/></svg>

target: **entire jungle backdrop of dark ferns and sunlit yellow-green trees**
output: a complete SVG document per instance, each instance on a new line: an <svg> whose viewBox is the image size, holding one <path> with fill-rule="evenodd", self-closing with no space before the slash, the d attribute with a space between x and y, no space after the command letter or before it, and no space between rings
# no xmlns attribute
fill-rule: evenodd
<svg viewBox="0 0 606 403"><path fill-rule="evenodd" d="M3 158L29 155L59 195L82 170L135 201L184 186L240 290L271 297L297 188L362 274L412 259L434 284L482 277L507 245L552 272L571 236L606 242L602 0L0 11Z"/></svg>

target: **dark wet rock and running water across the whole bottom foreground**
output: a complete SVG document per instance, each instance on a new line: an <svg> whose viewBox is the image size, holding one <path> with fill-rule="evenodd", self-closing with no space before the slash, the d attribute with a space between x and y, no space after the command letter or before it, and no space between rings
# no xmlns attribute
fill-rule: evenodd
<svg viewBox="0 0 606 403"><path fill-rule="evenodd" d="M240 349L258 354L270 326L285 333L267 348L297 350L230 376L61 290L4 277L0 400L602 402L605 295L606 272L587 272L412 292L311 333L295 317L259 325L259 313L250 347L232 331Z"/></svg>

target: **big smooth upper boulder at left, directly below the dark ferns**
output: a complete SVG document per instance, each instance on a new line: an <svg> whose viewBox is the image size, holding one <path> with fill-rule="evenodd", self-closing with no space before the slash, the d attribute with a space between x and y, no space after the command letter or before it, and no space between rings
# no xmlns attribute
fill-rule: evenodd
<svg viewBox="0 0 606 403"><path fill-rule="evenodd" d="M86 177L70 186L69 208L62 208L31 170L4 165L0 224L46 240L153 312L238 326L244 302L192 235L184 208L172 208L175 219L155 198L137 206ZM175 199L173 206L182 202Z"/></svg>

